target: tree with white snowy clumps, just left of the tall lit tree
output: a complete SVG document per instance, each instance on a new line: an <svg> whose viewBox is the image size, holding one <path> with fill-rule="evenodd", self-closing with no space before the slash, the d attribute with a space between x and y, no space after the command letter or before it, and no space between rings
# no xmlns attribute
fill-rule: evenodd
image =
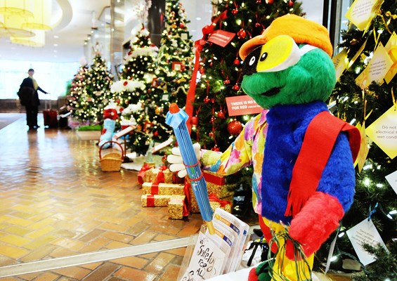
<svg viewBox="0 0 397 281"><path fill-rule="evenodd" d="M137 129L129 136L129 148L139 154L145 154L152 136L146 129L148 126L148 110L144 104L151 100L152 80L154 79L154 63L158 48L150 41L150 32L142 27L138 31L131 49L124 57L122 79L112 85L116 101L123 108L122 124L137 124Z"/></svg>

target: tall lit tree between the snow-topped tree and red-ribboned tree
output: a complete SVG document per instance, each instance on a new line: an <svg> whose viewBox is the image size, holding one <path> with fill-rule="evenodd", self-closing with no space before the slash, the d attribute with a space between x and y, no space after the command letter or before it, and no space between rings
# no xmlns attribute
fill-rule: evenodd
<svg viewBox="0 0 397 281"><path fill-rule="evenodd" d="M145 101L146 126L158 143L173 135L165 124L165 116L170 103L185 107L193 68L193 41L186 27L189 21L178 0L166 2L164 22L156 78L149 90L151 98Z"/></svg>

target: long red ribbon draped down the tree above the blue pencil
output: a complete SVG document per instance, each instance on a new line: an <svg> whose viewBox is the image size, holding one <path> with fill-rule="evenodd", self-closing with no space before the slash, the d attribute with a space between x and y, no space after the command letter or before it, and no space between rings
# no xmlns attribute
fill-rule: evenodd
<svg viewBox="0 0 397 281"><path fill-rule="evenodd" d="M200 52L202 51L203 46L207 43L208 34L214 32L216 23L219 20L225 20L228 18L228 10L223 11L221 15L214 18L212 20L211 25L206 25L202 28L202 39L195 41L195 67L193 68L192 79L190 80L188 96L186 96L186 107L185 112L189 116L186 125L188 126L189 133L191 132L192 125L190 124L190 119L193 117L193 102L195 101L195 93L196 93L196 79L197 79L197 72L200 66Z"/></svg>

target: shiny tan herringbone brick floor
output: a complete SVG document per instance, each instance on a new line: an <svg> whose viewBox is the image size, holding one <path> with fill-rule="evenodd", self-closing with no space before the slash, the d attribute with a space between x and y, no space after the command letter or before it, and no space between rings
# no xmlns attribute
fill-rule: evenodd
<svg viewBox="0 0 397 281"><path fill-rule="evenodd" d="M200 215L169 220L141 207L137 173L103 172L96 141L72 130L0 130L1 267L194 235ZM150 247L150 244L148 244ZM5 280L176 280L185 248L0 278Z"/></svg>

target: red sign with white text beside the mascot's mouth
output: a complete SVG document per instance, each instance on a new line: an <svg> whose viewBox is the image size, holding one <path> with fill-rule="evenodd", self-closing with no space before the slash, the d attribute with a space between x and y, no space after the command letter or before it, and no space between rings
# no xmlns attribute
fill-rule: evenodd
<svg viewBox="0 0 397 281"><path fill-rule="evenodd" d="M228 97L226 104L229 116L258 114L263 110L255 100L247 95Z"/></svg>

